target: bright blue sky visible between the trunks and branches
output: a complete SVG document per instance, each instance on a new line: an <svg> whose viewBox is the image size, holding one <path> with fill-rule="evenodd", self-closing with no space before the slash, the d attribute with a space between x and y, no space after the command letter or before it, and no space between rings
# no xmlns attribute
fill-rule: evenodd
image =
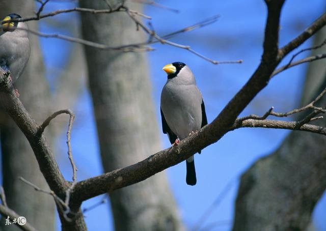
<svg viewBox="0 0 326 231"><path fill-rule="evenodd" d="M161 44L153 45L156 50L148 53L157 121L160 123L160 91L166 81L166 74L161 68L168 63L182 61L193 70L196 76L197 84L205 100L208 122L211 122L249 79L260 62L266 18L264 1L171 0L158 2L180 10L179 13L175 13L153 6L145 7L145 13L152 16L152 24L158 34L164 35L209 16L220 14L221 17L214 24L180 34L172 41L191 45L196 51L218 61L243 60L242 64L213 65L186 50ZM56 2L49 4L45 10L72 6L73 4ZM281 17L280 46L303 31L324 9L326 6L323 0L286 1ZM70 14L57 18L63 20L72 15L75 16L75 14ZM69 35L65 28L53 28L45 20L41 23L40 30L42 32L58 32L59 30L60 33ZM309 47L310 44L311 40L304 43L302 48ZM42 38L41 45L47 67L47 77L51 83L62 71L71 44L66 41ZM276 111L287 111L296 107L300 101L305 70L306 65L301 65L278 75L241 115L263 114L271 106L274 106ZM87 86L72 109L76 113L72 131L72 149L79 169L77 177L82 180L102 173ZM160 124L158 126L161 127ZM215 201L214 206L211 207L212 211L201 225L203 229L200 230L204 230L205 227L209 227L208 230L230 230L238 177L255 160L273 152L288 132L248 128L226 134L218 143L204 149L201 155L195 156L198 180L195 187L185 184L184 163L169 168L167 170L169 181L187 227L193 228ZM162 148L170 146L168 138L162 133L161 140ZM59 165L67 179L71 179L71 168L65 156L64 132L57 145L59 146L57 150L62 153L57 157ZM227 185L229 187L223 194L224 196L218 197ZM101 198L102 196L90 199L83 204L83 207L89 207ZM317 230L326 230L326 220L322 218L325 212L326 197L324 196L313 215ZM89 230L113 230L108 203L85 215Z"/></svg>

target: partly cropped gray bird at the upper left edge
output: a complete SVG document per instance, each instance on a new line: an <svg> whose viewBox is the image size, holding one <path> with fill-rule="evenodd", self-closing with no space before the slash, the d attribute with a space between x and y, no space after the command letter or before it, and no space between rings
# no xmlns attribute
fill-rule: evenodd
<svg viewBox="0 0 326 231"><path fill-rule="evenodd" d="M0 67L10 71L12 82L21 75L30 58L31 50L26 23L6 22L6 20L19 18L21 16L18 14L9 14L0 24Z"/></svg>

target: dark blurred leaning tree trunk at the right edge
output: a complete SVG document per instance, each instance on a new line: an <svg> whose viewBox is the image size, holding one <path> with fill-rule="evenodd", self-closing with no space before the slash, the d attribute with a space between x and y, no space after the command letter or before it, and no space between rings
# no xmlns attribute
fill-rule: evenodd
<svg viewBox="0 0 326 231"><path fill-rule="evenodd" d="M314 46L325 39L326 28ZM313 51L325 53L326 48ZM326 87L325 60L310 63L302 104ZM319 105L326 104L323 96ZM315 124L326 126L325 119ZM292 131L273 154L259 159L241 177L233 230L305 230L326 189L326 137Z"/></svg>

